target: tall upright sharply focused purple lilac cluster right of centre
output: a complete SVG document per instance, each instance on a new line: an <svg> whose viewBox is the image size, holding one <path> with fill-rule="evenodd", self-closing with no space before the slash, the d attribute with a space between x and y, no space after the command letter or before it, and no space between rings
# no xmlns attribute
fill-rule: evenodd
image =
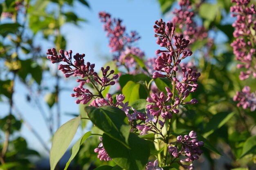
<svg viewBox="0 0 256 170"><path fill-rule="evenodd" d="M175 27L172 23L165 23L162 20L155 22L155 37L157 37L157 44L164 46L167 50L157 50L156 53L161 53L155 60L157 66L154 68L157 72L153 74L153 78L167 77L175 86L179 97L175 97L175 101L170 101L175 104L172 106L174 112L175 107L181 104L191 92L194 92L198 88L198 78L200 73L196 73L192 68L186 68L183 66L181 69L180 62L192 55L192 52L186 47L189 44L189 40L183 38L183 35L174 35ZM172 39L174 41L172 42ZM162 72L159 73L158 71ZM178 75L182 72L182 79L178 79ZM166 88L166 91L171 94L171 89ZM168 99L171 99L169 97ZM166 101L168 102L168 101ZM182 104L195 104L196 99L192 99L190 102L183 102ZM177 112L175 110L175 112Z"/></svg>

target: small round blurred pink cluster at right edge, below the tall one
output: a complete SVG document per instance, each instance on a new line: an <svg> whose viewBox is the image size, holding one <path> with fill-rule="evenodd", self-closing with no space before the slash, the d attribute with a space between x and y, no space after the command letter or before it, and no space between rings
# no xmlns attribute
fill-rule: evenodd
<svg viewBox="0 0 256 170"><path fill-rule="evenodd" d="M250 108L251 111L256 109L256 91L250 93L250 87L245 86L242 92L236 92L233 97L234 101L238 101L237 106L242 106L243 109Z"/></svg>

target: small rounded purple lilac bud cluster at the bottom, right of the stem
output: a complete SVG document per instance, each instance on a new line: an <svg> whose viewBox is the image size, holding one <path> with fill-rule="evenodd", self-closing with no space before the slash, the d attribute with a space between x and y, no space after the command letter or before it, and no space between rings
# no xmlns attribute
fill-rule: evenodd
<svg viewBox="0 0 256 170"><path fill-rule="evenodd" d="M177 141L175 143L169 144L168 152L174 158L185 156L185 159L180 158L180 166L192 170L193 166L192 163L188 165L184 165L183 163L192 162L198 159L198 155L202 154L202 150L200 149L201 146L204 146L204 142L198 141L196 139L196 132L193 130L189 132L189 135L182 135L177 137Z"/></svg>

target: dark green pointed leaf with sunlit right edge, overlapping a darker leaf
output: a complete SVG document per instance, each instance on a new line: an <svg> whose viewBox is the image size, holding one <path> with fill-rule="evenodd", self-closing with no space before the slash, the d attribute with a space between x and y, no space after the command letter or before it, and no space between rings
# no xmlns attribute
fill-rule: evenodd
<svg viewBox="0 0 256 170"><path fill-rule="evenodd" d="M130 126L125 122L127 117L122 110L114 106L102 106L99 108L88 106L85 107L85 112L87 112L94 125L128 147Z"/></svg>

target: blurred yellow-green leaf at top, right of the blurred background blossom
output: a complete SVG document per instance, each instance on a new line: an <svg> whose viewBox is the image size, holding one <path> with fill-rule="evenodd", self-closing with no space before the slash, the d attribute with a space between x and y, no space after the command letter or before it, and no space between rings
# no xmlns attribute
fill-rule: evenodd
<svg viewBox="0 0 256 170"><path fill-rule="evenodd" d="M209 21L214 21L218 12L217 4L202 3L199 8L199 15Z"/></svg>

